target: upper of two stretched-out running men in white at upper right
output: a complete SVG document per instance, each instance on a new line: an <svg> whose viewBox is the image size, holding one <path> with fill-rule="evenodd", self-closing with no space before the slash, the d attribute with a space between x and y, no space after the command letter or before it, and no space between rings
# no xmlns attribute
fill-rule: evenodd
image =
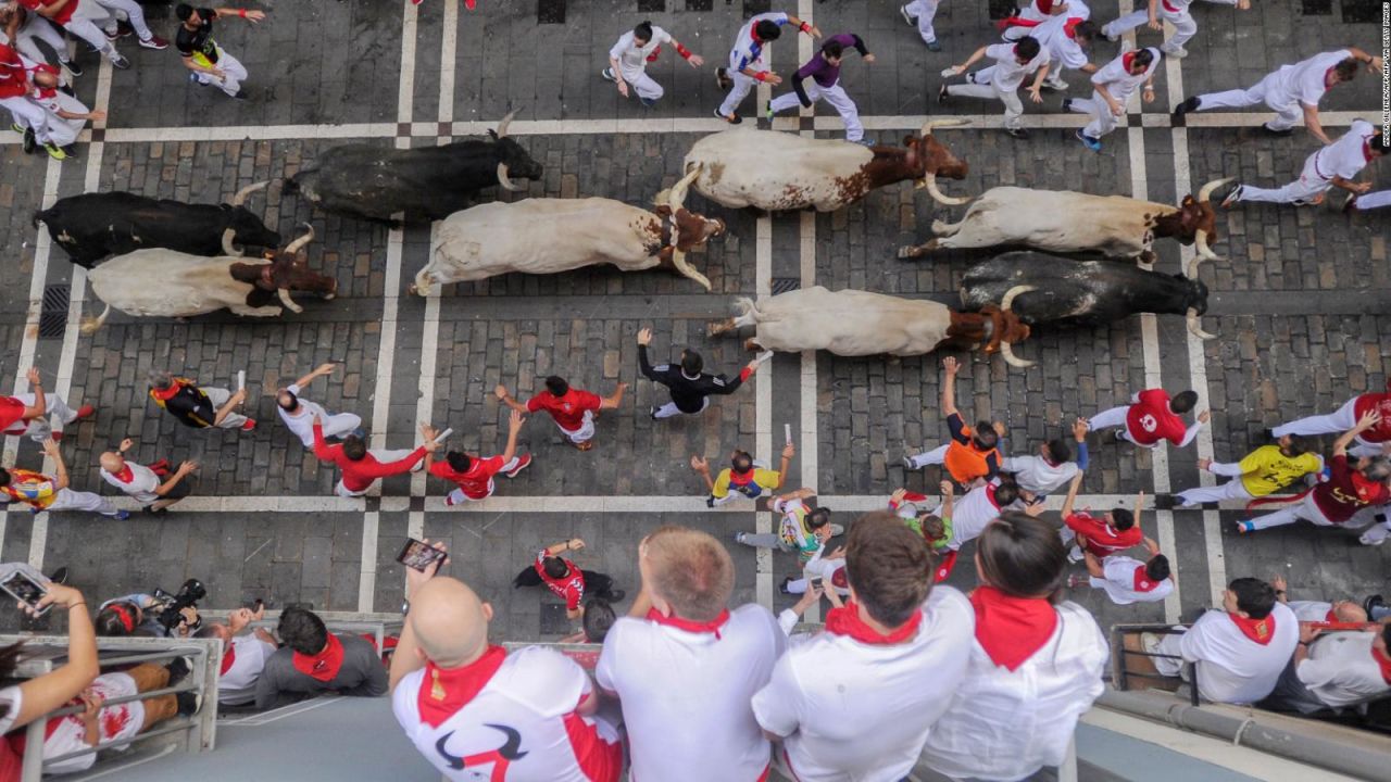
<svg viewBox="0 0 1391 782"><path fill-rule="evenodd" d="M1195 95L1174 110L1174 117L1182 117L1188 111L1245 109L1264 103L1277 114L1273 121L1262 125L1267 132L1289 135L1302 117L1309 132L1328 145L1333 141L1319 124L1319 100L1334 85L1352 81L1358 75L1358 63L1366 63L1369 72L1381 72L1380 57L1349 46L1337 51L1314 54L1292 65L1281 65L1278 71L1267 74L1249 89Z"/></svg>

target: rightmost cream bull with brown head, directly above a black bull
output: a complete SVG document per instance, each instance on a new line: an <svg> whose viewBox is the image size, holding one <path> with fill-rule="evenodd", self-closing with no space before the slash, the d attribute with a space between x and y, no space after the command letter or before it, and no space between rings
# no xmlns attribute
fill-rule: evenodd
<svg viewBox="0 0 1391 782"><path fill-rule="evenodd" d="M936 249L1027 246L1061 253L1100 253L1153 262L1157 238L1198 242L1198 255L1217 260L1210 245L1217 238L1217 216L1210 198L1231 179L1203 185L1198 198L1184 196L1167 206L1125 196L1096 196L1070 191L990 188L965 210L960 223L932 223L936 238L899 249L899 257L921 257Z"/></svg>

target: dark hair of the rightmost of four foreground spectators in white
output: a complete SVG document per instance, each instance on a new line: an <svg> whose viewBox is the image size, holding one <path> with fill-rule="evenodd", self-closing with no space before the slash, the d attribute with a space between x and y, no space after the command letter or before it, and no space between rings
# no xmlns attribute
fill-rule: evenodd
<svg viewBox="0 0 1391 782"><path fill-rule="evenodd" d="M1053 596L1063 582L1067 551L1057 527L1022 511L1000 513L975 545L981 573L1008 596Z"/></svg>

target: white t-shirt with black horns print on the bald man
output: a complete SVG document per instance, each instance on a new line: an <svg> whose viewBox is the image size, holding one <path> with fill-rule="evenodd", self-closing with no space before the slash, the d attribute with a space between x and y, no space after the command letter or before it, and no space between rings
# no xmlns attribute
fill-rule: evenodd
<svg viewBox="0 0 1391 782"><path fill-rule="evenodd" d="M434 726L421 715L430 687L426 669L408 673L391 705L406 737L447 779L593 782L593 764L606 767L594 760L595 751L612 753L609 760L618 763L616 749L605 749L616 733L574 711L593 692L590 678L556 651L533 646L508 654L472 700Z"/></svg>

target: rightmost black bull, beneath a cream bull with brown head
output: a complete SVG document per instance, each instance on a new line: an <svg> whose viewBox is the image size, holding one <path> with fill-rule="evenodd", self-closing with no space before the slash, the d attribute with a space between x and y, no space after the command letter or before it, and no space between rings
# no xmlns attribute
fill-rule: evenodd
<svg viewBox="0 0 1391 782"><path fill-rule="evenodd" d="M961 306L985 312L1008 298L1011 312L1027 326L1102 326L1142 312L1182 314L1193 335L1212 340L1199 321L1207 312L1207 285L1198 278L1199 260L1188 264L1185 277L1128 263L1007 252L965 273Z"/></svg>

